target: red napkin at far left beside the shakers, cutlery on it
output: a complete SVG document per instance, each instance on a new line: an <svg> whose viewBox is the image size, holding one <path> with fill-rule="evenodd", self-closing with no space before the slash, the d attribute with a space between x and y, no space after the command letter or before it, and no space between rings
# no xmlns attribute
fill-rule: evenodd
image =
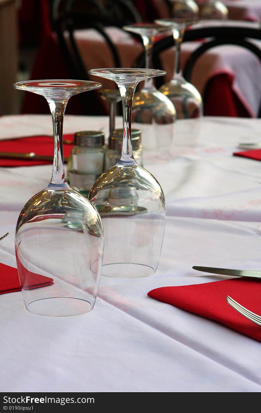
<svg viewBox="0 0 261 413"><path fill-rule="evenodd" d="M67 158L73 147L73 134L63 135L63 138L72 142L71 144L66 143L63 145L63 156ZM29 136L26 138L0 140L0 152L34 152L36 155L47 155L52 157L54 154L54 141L52 136ZM33 166L45 164L52 164L52 161L0 157L0 166Z"/></svg>

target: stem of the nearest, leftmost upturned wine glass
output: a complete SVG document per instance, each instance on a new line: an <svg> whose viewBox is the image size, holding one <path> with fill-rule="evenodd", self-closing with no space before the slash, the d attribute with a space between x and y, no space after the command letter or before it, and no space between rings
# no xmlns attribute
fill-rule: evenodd
<svg viewBox="0 0 261 413"><path fill-rule="evenodd" d="M52 114L53 130L54 130L54 162L52 170L52 178L49 186L68 186L64 173L63 164L63 117L66 108L67 100L55 102L47 100Z"/></svg>

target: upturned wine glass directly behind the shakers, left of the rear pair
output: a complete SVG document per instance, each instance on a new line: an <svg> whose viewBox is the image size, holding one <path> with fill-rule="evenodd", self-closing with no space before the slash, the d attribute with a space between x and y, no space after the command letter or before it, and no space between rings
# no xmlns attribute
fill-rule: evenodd
<svg viewBox="0 0 261 413"><path fill-rule="evenodd" d="M166 33L169 28L159 24L130 24L123 29L141 36L145 67L152 68L155 36ZM153 78L146 78L143 88L135 93L132 105L132 122L137 123L135 126L142 131L143 148L151 154L155 152L164 156L172 142L175 119L174 104L155 88Z"/></svg>

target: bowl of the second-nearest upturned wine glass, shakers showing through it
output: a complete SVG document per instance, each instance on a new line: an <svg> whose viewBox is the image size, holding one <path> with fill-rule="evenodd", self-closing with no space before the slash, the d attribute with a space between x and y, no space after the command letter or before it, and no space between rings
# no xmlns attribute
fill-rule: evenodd
<svg viewBox="0 0 261 413"><path fill-rule="evenodd" d="M165 228L165 199L158 181L137 164L116 164L96 180L89 199L104 228L102 275L152 275Z"/></svg>

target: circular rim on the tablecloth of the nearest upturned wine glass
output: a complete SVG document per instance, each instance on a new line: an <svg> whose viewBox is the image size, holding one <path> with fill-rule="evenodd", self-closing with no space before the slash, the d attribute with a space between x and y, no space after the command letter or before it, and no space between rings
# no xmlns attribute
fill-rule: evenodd
<svg viewBox="0 0 261 413"><path fill-rule="evenodd" d="M41 316L61 317L88 313L93 307L94 304L77 297L48 297L31 301L26 309Z"/></svg>

